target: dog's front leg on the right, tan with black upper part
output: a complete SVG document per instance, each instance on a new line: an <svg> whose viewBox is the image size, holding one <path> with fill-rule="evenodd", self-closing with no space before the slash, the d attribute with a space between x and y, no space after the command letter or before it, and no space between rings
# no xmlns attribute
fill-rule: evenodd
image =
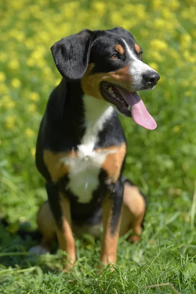
<svg viewBox="0 0 196 294"><path fill-rule="evenodd" d="M118 180L112 192L107 194L102 201L103 239L100 260L105 265L115 263L117 260L123 189L122 181Z"/></svg>

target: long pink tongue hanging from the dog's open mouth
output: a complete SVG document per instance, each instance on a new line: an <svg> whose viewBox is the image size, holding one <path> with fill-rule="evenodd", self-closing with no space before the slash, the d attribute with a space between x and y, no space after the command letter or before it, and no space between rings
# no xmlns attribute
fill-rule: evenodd
<svg viewBox="0 0 196 294"><path fill-rule="evenodd" d="M131 105L131 116L135 123L142 125L143 127L153 130L156 128L156 122L153 117L148 113L144 102L137 94L137 92L127 92L123 89L118 88L118 91L123 96L124 100L128 105Z"/></svg>

